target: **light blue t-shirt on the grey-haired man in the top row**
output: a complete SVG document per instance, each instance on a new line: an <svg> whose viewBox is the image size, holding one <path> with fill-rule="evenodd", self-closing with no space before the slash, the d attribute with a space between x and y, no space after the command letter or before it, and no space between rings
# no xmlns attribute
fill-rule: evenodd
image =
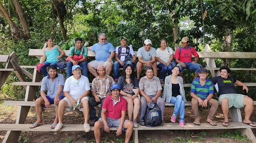
<svg viewBox="0 0 256 143"><path fill-rule="evenodd" d="M106 62L108 57L110 56L110 52L115 51L114 46L111 43L106 42L101 45L100 42L94 44L92 47L92 51L96 53L95 59L96 61L104 61Z"/></svg>

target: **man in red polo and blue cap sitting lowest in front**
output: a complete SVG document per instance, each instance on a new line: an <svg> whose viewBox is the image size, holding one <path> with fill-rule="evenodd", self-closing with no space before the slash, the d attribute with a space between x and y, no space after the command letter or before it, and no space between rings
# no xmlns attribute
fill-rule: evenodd
<svg viewBox="0 0 256 143"><path fill-rule="evenodd" d="M96 143L101 143L101 130L109 133L110 127L117 128L116 136L120 136L123 131L125 134L125 143L129 143L129 140L133 133L133 122L125 120L127 103L124 98L119 96L121 91L119 84L111 85L111 96L105 98L102 110L101 118L94 124L94 137Z"/></svg>

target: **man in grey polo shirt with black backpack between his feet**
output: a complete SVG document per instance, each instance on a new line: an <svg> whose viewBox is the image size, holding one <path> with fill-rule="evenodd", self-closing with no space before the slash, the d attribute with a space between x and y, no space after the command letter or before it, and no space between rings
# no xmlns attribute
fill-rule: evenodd
<svg viewBox="0 0 256 143"><path fill-rule="evenodd" d="M159 106L163 120L164 100L159 97L162 92L162 87L159 78L153 76L153 71L152 67L147 67L146 76L142 77L139 83L141 93L140 125L145 125L144 116L146 114L147 106L152 103L152 100ZM163 121L160 125L163 125Z"/></svg>

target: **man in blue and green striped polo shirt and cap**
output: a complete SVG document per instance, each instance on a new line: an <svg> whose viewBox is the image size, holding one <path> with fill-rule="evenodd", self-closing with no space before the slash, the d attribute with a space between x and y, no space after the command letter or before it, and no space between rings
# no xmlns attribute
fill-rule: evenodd
<svg viewBox="0 0 256 143"><path fill-rule="evenodd" d="M211 106L206 122L216 126L216 122L213 121L214 115L218 109L219 103L213 97L213 84L207 78L208 71L205 68L201 68L199 71L199 77L192 81L190 95L192 97L191 106L194 113L194 124L200 125L200 114L198 112L198 106L206 107Z"/></svg>

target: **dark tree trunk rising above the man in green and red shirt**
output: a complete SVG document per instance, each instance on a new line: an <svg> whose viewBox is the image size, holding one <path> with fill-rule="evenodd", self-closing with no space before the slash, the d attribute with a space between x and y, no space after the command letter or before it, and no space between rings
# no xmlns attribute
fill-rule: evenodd
<svg viewBox="0 0 256 143"><path fill-rule="evenodd" d="M65 29L65 25L64 25L64 16L67 13L66 7L62 0L52 0L52 4L54 5L54 8L55 8L55 9L53 9L53 11L57 12L59 24L61 27L63 42L66 42L67 41L67 30Z"/></svg>

